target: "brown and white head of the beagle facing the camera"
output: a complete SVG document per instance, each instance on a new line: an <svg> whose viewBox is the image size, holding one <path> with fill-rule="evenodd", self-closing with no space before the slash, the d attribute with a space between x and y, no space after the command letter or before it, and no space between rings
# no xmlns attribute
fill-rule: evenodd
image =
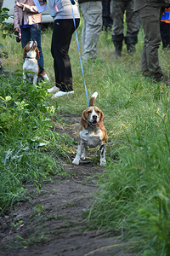
<svg viewBox="0 0 170 256"><path fill-rule="evenodd" d="M98 107L88 107L82 113L81 125L88 128L88 126L96 127L99 122L103 120L103 112Z"/></svg>

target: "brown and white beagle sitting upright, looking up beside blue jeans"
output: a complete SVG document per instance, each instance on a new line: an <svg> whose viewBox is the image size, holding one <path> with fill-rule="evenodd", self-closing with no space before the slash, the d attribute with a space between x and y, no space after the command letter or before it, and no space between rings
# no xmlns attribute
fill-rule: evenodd
<svg viewBox="0 0 170 256"><path fill-rule="evenodd" d="M44 69L38 66L37 59L40 58L39 49L37 48L37 41L29 41L24 48L23 53L23 80L26 77L33 79L33 84L37 84L38 76L42 79L48 79L48 75Z"/></svg>

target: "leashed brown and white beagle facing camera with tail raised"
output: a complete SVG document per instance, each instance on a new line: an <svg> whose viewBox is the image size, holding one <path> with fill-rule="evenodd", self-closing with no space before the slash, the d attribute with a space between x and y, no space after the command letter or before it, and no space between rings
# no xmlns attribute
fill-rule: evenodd
<svg viewBox="0 0 170 256"><path fill-rule="evenodd" d="M82 112L81 127L79 129L79 143L77 155L72 161L73 165L79 165L80 160L88 156L88 147L100 146L100 166L105 166L105 145L107 133L103 124L103 112L94 106L94 101L98 96L97 92L90 98L89 107Z"/></svg>

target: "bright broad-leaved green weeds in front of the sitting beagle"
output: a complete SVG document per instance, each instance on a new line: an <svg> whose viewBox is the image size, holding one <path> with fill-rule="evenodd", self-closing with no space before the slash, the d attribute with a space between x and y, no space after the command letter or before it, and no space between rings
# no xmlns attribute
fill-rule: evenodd
<svg viewBox="0 0 170 256"><path fill-rule="evenodd" d="M50 103L45 100L47 92L42 89L42 84L33 86L32 84L15 84L11 88L10 80L8 84L2 77L3 87L2 96L0 96L0 131L11 129L14 125L20 125L22 119L30 119L31 113L48 113ZM18 83L18 81L16 82ZM15 86L16 85L16 86ZM7 93L11 96L4 96ZM46 119L47 120L47 119Z"/></svg>

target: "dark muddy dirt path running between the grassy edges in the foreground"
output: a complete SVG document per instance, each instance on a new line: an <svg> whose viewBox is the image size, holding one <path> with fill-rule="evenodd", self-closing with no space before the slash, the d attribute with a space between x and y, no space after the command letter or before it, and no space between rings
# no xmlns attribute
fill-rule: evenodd
<svg viewBox="0 0 170 256"><path fill-rule="evenodd" d="M79 117L65 116L68 125L57 127L77 140ZM76 146L75 146L76 147ZM73 157L73 156L72 156ZM39 193L27 184L27 201L20 201L10 214L0 217L0 256L129 256L119 233L88 230L84 218L97 190L96 176L103 169L94 163L63 164L69 178L44 183Z"/></svg>

